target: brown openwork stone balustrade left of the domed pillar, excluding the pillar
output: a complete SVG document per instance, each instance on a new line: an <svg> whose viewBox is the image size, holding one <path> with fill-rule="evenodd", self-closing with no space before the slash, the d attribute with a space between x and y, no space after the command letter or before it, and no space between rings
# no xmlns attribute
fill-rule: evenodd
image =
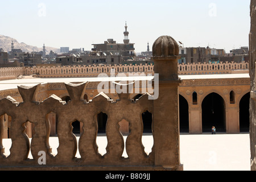
<svg viewBox="0 0 256 182"><path fill-rule="evenodd" d="M119 100L112 102L108 96L98 94L90 102L84 102L82 95L86 92L86 83L65 84L71 101L67 103L61 101L57 96L48 97L43 102L35 102L34 96L38 92L40 85L32 88L19 87L20 94L24 102L17 103L13 98L0 100L0 113L8 114L12 118L11 140L12 147L10 156L5 156L2 146L3 123L0 122L0 168L1 169L31 169L34 167L52 167L61 169L69 166L70 169L88 169L96 167L98 169L114 169L117 166L138 166L138 169L154 169L154 148L151 154L147 155L142 144L143 122L141 115L145 110L152 113L153 101L148 100L147 94L134 102L130 94L118 94ZM127 86L128 87L128 86ZM106 154L101 156L98 153L96 143L98 124L97 114L103 112L108 115L106 123L106 136L108 146ZM57 115L57 137L59 147L57 155L53 155L49 146L49 131L51 123L47 119L47 114ZM124 140L119 131L118 123L125 119L130 123L130 134L126 139L126 151L129 158L122 158L124 150ZM82 124L82 133L77 143L75 135L72 133L72 122L79 121ZM32 123L31 143L26 134L27 123ZM159 142L161 142L160 139ZM156 142L156 141L155 141ZM156 142L157 143L157 142ZM79 149L81 158L75 158ZM28 153L31 150L33 159L28 160ZM47 166L40 166L38 160L39 152L46 153ZM19 166L19 167L18 167ZM11 168L7 168L11 167ZM90 168L89 167L89 168ZM90 168L92 169L92 168ZM121 168L120 168L121 169Z"/></svg>

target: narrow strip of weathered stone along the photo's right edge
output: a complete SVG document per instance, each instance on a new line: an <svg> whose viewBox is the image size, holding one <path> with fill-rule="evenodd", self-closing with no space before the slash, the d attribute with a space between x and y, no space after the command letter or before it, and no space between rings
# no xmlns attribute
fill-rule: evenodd
<svg viewBox="0 0 256 182"><path fill-rule="evenodd" d="M250 5L251 30L249 34L249 56L251 77L250 98L250 147L251 171L256 171L256 90L255 90L255 64L256 64L256 0L251 0Z"/></svg>

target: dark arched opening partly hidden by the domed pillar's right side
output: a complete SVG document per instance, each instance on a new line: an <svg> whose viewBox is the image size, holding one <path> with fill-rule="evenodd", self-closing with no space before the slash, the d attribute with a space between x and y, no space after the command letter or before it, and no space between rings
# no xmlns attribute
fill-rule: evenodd
<svg viewBox="0 0 256 182"><path fill-rule="evenodd" d="M188 116L188 102L179 95L179 117L180 117L180 133L189 132L189 116Z"/></svg>

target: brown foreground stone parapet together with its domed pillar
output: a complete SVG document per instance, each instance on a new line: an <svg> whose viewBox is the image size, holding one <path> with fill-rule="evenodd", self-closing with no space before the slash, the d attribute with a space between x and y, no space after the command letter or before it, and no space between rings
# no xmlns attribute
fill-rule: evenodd
<svg viewBox="0 0 256 182"><path fill-rule="evenodd" d="M154 44L153 49L159 50L159 46L163 46L164 50L163 55L153 54L157 61L155 77L152 82L154 82L154 89L159 86L159 97L155 96L156 92L154 96L146 93L138 100L133 100L130 99L129 93L123 92L117 94L118 99L114 102L101 92L92 101L87 102L84 94L88 82L84 82L65 84L70 97L67 102L55 95L51 95L42 102L36 101L40 85L31 88L18 86L22 102L17 102L10 96L0 100L0 115L11 117L12 140L10 155L6 156L2 144L3 131L6 128L6 119L3 118L0 122L0 169L183 170L179 151L178 93L181 81L177 75L178 56L176 56L179 51L174 39L171 40L169 37L163 36L163 39L160 37L158 40L168 40L167 44ZM158 40L156 43L159 43ZM170 46L173 42L176 43L175 49ZM76 69L73 71L76 72ZM114 84L120 86L119 83ZM122 88L126 86L126 90L129 90L129 85L122 85ZM170 105L170 103L172 104ZM154 146L150 154L146 154L142 144L142 114L145 111L152 114L151 130ZM97 114L101 112L108 115L106 122L108 145L104 155L99 154L96 143ZM57 124L59 139L57 155L52 154L49 145L51 133L49 114L52 113L56 114L59 121ZM124 119L129 122L130 129L126 144L119 131L119 122ZM79 142L73 134L72 123L76 121L82 124L80 125L82 133ZM31 142L26 134L29 123L32 123ZM128 158L122 157L124 148L126 148ZM30 150L32 159L28 159ZM81 158L75 157L77 150L79 150ZM44 162L42 163L41 160Z"/></svg>

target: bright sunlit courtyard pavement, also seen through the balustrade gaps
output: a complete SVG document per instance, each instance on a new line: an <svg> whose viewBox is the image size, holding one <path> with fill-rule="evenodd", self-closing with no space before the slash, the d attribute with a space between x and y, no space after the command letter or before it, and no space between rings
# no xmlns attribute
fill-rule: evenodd
<svg viewBox="0 0 256 182"><path fill-rule="evenodd" d="M124 137L126 139L126 137ZM79 137L77 137L77 141ZM151 151L152 135L142 138L145 151ZM57 137L49 141L52 152L57 153ZM105 154L107 140L97 137L98 151ZM6 154L10 154L11 139L3 139ZM123 156L127 157L126 151ZM79 152L76 157L80 157ZM29 158L32 158L31 154ZM180 135L180 162L184 171L250 171L250 138L249 134L202 134Z"/></svg>

